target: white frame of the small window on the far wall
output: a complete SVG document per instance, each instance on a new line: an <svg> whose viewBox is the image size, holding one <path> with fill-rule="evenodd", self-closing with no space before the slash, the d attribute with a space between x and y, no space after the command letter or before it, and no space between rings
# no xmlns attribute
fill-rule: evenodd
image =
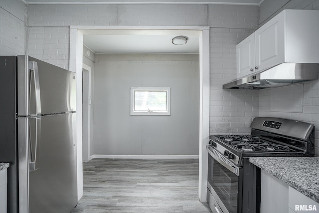
<svg viewBox="0 0 319 213"><path fill-rule="evenodd" d="M167 111L135 111L135 91L165 91ZM170 87L131 87L131 115L170 115Z"/></svg>

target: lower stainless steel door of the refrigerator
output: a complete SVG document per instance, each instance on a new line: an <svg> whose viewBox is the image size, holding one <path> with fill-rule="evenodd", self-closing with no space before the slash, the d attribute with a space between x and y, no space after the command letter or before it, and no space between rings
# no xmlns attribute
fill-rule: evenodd
<svg viewBox="0 0 319 213"><path fill-rule="evenodd" d="M20 213L70 213L77 205L75 113L41 116L39 146L36 125L37 118L18 118Z"/></svg>

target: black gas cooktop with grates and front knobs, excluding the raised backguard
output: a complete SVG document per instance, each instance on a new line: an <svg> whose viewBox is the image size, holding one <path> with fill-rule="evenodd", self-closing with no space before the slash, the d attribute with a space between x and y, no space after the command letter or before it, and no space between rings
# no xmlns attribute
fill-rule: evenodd
<svg viewBox="0 0 319 213"><path fill-rule="evenodd" d="M250 157L298 157L314 156L311 143L279 137L255 135L211 135L207 150L222 156L235 165L242 166Z"/></svg>

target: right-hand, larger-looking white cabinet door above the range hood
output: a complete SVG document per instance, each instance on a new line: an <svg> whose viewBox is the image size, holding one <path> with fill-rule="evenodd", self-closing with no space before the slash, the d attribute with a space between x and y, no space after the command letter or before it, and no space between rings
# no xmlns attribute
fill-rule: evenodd
<svg viewBox="0 0 319 213"><path fill-rule="evenodd" d="M285 61L284 15L279 13L255 31L256 72Z"/></svg>

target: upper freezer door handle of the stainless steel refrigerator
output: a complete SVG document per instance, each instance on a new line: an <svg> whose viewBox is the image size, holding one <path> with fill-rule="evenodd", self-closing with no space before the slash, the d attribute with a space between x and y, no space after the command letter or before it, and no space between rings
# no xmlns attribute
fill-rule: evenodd
<svg viewBox="0 0 319 213"><path fill-rule="evenodd" d="M31 74L33 73L33 80L34 80L34 91L35 91L35 115L39 116L41 115L41 95L40 95L40 80L39 80L39 69L38 69L38 63L36 61L29 61L29 70L31 71ZM32 78L32 77L31 77ZM30 86L31 87L31 81ZM31 88L29 88L29 93L31 92ZM29 94L29 104L30 104L30 97ZM29 107L30 110L30 107Z"/></svg>

